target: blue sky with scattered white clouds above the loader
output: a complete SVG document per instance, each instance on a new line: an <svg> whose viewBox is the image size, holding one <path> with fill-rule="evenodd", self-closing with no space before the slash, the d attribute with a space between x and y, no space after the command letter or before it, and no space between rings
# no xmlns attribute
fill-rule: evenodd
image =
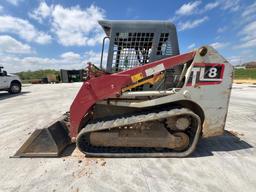
<svg viewBox="0 0 256 192"><path fill-rule="evenodd" d="M253 0L1 0L0 64L18 72L98 63L99 19L169 20L181 52L210 44L232 64L256 60Z"/></svg>

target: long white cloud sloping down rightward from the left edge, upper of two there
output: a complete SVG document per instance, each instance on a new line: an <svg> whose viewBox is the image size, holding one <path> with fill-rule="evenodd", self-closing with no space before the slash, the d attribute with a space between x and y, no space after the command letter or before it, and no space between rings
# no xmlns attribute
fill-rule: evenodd
<svg viewBox="0 0 256 192"><path fill-rule="evenodd" d="M13 33L30 42L47 44L51 36L38 31L30 22L12 16L0 16L0 32Z"/></svg>

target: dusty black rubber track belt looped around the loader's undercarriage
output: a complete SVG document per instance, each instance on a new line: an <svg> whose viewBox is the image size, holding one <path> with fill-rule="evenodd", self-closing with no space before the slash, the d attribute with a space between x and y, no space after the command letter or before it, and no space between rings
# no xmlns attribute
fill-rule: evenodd
<svg viewBox="0 0 256 192"><path fill-rule="evenodd" d="M145 123L148 121L155 121L158 119L169 118L178 115L190 115L196 121L197 125L194 127L192 133L192 141L186 151L176 152L172 149L165 148L136 148L136 147L95 147L90 145L89 133L101 130L110 130L113 128L129 126L136 123ZM199 140L201 133L200 118L189 109L171 109L169 111L154 112L148 114L139 114L130 117L120 117L113 120L106 120L96 123L88 124L83 128L77 137L77 146L79 150L87 156L100 157L185 157L190 155ZM86 151L84 150L86 148Z"/></svg>

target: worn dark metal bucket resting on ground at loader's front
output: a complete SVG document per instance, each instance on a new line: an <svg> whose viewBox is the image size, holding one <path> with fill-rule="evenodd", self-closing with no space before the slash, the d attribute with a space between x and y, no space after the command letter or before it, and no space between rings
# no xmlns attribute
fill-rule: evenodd
<svg viewBox="0 0 256 192"><path fill-rule="evenodd" d="M43 129L35 130L13 157L58 157L70 144L65 116Z"/></svg>

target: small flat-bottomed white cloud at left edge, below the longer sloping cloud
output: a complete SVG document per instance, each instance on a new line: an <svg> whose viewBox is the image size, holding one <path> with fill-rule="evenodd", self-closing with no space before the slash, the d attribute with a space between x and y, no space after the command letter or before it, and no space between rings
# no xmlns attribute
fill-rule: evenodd
<svg viewBox="0 0 256 192"><path fill-rule="evenodd" d="M32 53L32 49L29 45L23 44L8 35L2 35L0 36L0 52L27 54Z"/></svg>

